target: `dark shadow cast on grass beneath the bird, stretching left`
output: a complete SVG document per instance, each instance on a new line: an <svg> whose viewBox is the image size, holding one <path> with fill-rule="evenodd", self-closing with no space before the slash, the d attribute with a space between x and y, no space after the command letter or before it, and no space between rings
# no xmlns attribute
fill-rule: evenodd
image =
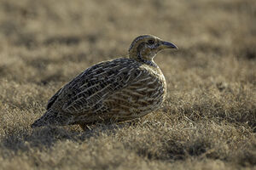
<svg viewBox="0 0 256 170"><path fill-rule="evenodd" d="M71 127L38 127L32 129L32 131L20 130L6 134L0 140L0 145L15 152L29 150L30 148L51 148L60 141L71 140L75 143L81 143L102 133L115 133L121 127L123 125L95 125L95 127L88 128L85 131L79 131Z"/></svg>

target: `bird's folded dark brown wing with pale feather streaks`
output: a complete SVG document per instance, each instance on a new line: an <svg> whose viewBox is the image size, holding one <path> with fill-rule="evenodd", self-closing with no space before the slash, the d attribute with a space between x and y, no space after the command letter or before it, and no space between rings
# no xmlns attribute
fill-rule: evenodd
<svg viewBox="0 0 256 170"><path fill-rule="evenodd" d="M63 89L69 99L62 110L72 114L100 110L102 100L135 82L143 74L139 66L132 59L115 59L90 67Z"/></svg>

